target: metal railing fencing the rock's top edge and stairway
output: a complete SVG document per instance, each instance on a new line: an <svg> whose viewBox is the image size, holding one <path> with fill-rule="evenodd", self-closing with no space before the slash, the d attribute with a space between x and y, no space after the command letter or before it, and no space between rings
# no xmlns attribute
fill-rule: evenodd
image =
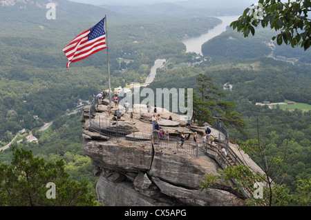
<svg viewBox="0 0 311 220"><path fill-rule="evenodd" d="M194 142L182 140L178 137L169 137L166 139L160 137L158 134L144 134L142 132L135 132L129 128L129 130L124 131L121 129L119 121L111 121L107 118L94 119L94 112L96 111L97 97L94 97L93 103L91 103L89 111L90 119L90 130L98 132L106 137L116 139L117 141L139 141L147 142L153 144L153 147L162 146L164 148L170 148L171 150L187 152L188 154L195 155L196 157L207 155L217 161L221 168L227 168L229 166L245 165L243 161L236 155L236 153L229 147L229 135L225 126L217 122L218 129L221 130L222 134L218 135L218 146L214 146L208 143L198 143L194 145ZM124 125L122 125L124 126ZM125 129L126 130L126 129ZM225 148L227 155L222 151ZM235 179L232 179L234 183L237 183ZM245 197L249 198L253 193L253 189L249 187L240 188L241 192Z"/></svg>

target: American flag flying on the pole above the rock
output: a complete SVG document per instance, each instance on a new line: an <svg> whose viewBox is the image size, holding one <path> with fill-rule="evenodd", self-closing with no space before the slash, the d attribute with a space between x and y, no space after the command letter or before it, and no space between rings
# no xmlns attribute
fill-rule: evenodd
<svg viewBox="0 0 311 220"><path fill-rule="evenodd" d="M68 58L67 68L70 63L82 60L106 48L106 33L104 30L104 19L92 28L79 34L63 51Z"/></svg>

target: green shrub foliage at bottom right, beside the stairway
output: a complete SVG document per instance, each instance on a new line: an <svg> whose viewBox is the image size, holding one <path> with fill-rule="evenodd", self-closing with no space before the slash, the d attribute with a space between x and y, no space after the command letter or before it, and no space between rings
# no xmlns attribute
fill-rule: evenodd
<svg viewBox="0 0 311 220"><path fill-rule="evenodd" d="M207 190L213 186L225 186L234 179L237 192L243 188L251 188L253 194L247 201L247 206L310 206L310 180L299 181L295 193L283 184L265 183L267 176L249 170L247 166L227 167L218 171L218 174L205 174L205 179L200 183L201 190ZM261 183L256 186L254 183ZM261 190L261 192L259 192Z"/></svg>

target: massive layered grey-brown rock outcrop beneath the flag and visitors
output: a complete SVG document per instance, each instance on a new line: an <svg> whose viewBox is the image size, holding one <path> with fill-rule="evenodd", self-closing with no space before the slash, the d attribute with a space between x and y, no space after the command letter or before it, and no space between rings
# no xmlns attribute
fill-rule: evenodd
<svg viewBox="0 0 311 220"><path fill-rule="evenodd" d="M120 107L121 108L121 107ZM108 115L106 106L97 106L93 120L113 120ZM214 186L201 191L199 184L205 174L218 174L218 163L205 155L176 150L147 141L128 141L115 139L93 132L88 118L88 107L84 108L84 132L82 152L91 157L95 165L97 197L106 206L243 206L243 195L233 190L234 185ZM151 134L153 113L140 113L135 110L134 121L123 114L122 123L136 132ZM158 113L157 113L158 114ZM160 112L162 119L169 117L169 112ZM172 135L185 128L178 115L171 124L165 121L163 130L170 130Z"/></svg>

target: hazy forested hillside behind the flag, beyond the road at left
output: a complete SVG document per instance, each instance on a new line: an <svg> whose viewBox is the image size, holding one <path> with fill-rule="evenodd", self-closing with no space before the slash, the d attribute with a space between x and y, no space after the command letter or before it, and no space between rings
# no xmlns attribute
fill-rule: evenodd
<svg viewBox="0 0 311 220"><path fill-rule="evenodd" d="M97 90L108 88L105 50L68 69L62 52L77 34L94 26L104 14L109 28L113 88L125 86L126 82L143 82L156 57L185 50L179 38L200 34L220 22L202 18L149 23L141 17L129 19L104 8L70 1L57 1L56 19L48 20L48 9L31 2L0 6L0 108L1 112L14 109L20 115L19 121L30 111L40 119L51 120L73 108L78 97L87 100ZM125 74L120 72L119 57L133 61ZM7 117L2 120L1 134L6 130L15 133L23 127L15 119L12 126Z"/></svg>

